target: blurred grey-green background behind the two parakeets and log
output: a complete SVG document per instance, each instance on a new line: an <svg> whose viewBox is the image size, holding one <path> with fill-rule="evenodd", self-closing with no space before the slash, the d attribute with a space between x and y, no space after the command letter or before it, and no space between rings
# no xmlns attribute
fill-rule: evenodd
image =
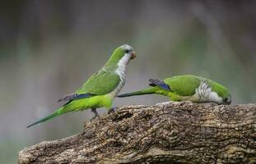
<svg viewBox="0 0 256 164"><path fill-rule="evenodd" d="M226 85L233 104L256 102L256 1L56 0L0 6L0 163L44 140L77 134L90 111L26 129L60 107L105 64L114 48L133 46L121 93L150 78L203 75ZM114 106L167 98L116 98ZM106 112L105 109L100 110Z"/></svg>

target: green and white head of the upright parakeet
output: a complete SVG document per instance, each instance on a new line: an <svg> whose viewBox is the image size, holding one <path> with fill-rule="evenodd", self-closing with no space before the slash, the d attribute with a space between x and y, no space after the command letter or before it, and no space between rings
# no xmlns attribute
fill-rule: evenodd
<svg viewBox="0 0 256 164"><path fill-rule="evenodd" d="M127 66L130 60L135 57L136 53L133 51L133 48L128 44L123 44L114 50L108 64Z"/></svg>

